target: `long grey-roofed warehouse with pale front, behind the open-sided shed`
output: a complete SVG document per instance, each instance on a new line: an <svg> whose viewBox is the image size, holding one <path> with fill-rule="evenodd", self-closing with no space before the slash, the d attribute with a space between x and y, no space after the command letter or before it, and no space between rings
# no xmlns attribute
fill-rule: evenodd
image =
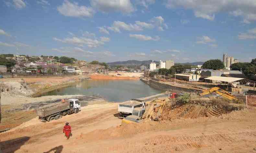
<svg viewBox="0 0 256 153"><path fill-rule="evenodd" d="M220 77L222 74L242 74L240 71L233 71L233 70L213 70L213 69L202 69L201 76L213 77L217 76Z"/></svg>

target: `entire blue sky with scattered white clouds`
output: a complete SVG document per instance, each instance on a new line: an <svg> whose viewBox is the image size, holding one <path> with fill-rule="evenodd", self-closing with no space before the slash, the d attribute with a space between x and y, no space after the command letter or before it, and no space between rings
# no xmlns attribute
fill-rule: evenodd
<svg viewBox="0 0 256 153"><path fill-rule="evenodd" d="M255 48L256 0L0 2L0 54L250 62Z"/></svg>

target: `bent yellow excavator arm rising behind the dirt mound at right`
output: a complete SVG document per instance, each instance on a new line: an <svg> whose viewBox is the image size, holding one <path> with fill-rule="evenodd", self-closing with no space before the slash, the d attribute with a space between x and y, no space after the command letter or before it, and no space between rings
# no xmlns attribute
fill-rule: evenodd
<svg viewBox="0 0 256 153"><path fill-rule="evenodd" d="M207 95L207 94L210 94L210 93L217 93L229 100L238 100L235 96L231 95L230 93L228 93L227 91L225 90L222 90L221 88L219 87L213 87L213 88L210 88L210 89L205 89L202 91L202 93L200 93L199 95L200 96L204 96L204 95Z"/></svg>

